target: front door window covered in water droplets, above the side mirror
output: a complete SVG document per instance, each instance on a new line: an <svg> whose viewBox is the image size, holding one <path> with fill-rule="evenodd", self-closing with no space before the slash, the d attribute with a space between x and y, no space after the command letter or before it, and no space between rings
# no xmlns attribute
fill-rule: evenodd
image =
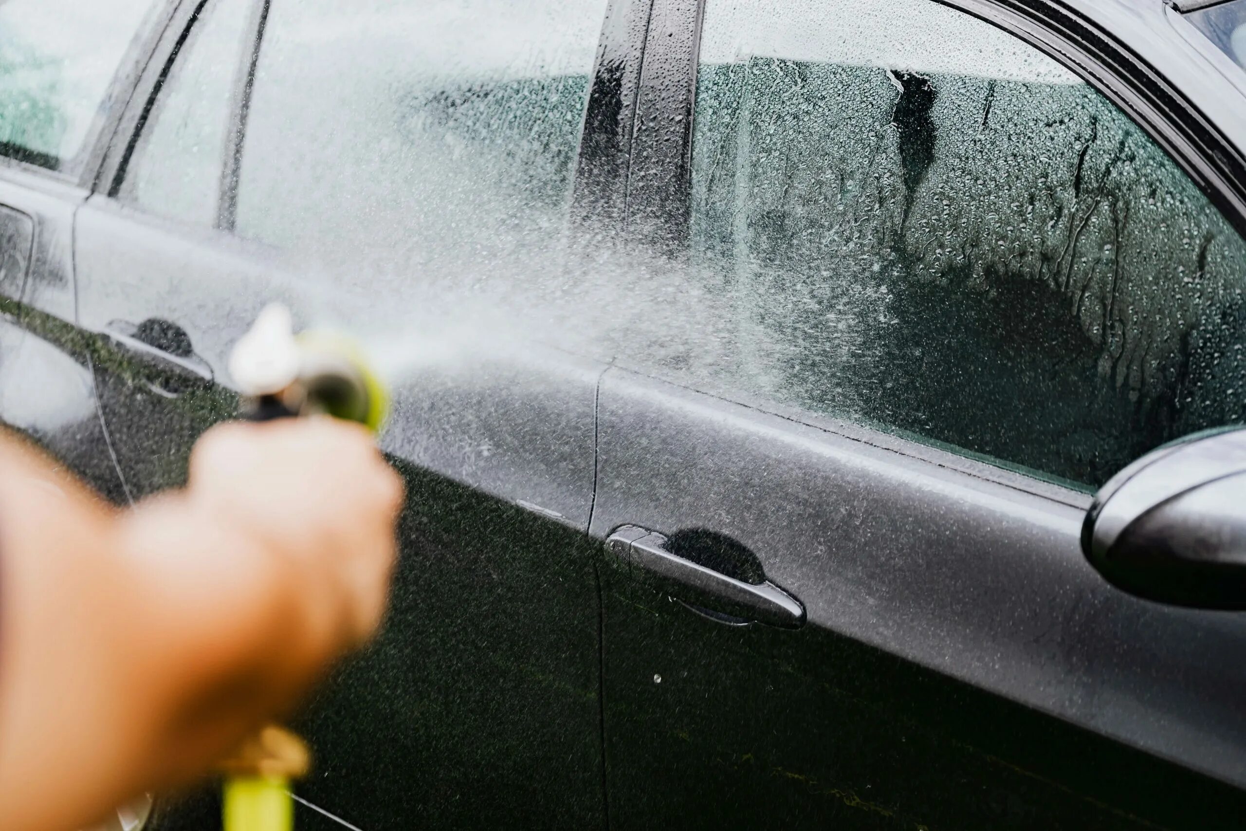
<svg viewBox="0 0 1246 831"><path fill-rule="evenodd" d="M706 375L1084 487L1244 420L1246 244L1060 65L932 0L706 0L700 50Z"/></svg>

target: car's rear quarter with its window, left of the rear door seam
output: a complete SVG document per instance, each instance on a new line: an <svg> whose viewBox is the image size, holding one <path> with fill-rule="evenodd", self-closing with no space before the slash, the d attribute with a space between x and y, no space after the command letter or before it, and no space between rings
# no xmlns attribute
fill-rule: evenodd
<svg viewBox="0 0 1246 831"><path fill-rule="evenodd" d="M0 422L112 501L123 491L74 328L71 228L151 5L100 2L64 25L64 2L0 9Z"/></svg>

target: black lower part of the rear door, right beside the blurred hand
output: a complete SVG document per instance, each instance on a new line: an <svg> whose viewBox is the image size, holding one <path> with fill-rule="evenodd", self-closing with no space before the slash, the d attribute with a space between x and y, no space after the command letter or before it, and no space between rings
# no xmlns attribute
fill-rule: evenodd
<svg viewBox="0 0 1246 831"><path fill-rule="evenodd" d="M402 552L380 638L292 725L297 792L364 829L603 824L594 549L581 532L400 466ZM216 797L159 831L216 831ZM300 827L323 817L298 809Z"/></svg>

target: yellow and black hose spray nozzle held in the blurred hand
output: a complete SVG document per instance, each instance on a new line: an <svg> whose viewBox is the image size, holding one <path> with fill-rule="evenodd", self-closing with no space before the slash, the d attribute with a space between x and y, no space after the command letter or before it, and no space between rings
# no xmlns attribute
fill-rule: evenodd
<svg viewBox="0 0 1246 831"><path fill-rule="evenodd" d="M238 340L229 374L252 421L328 415L375 434L389 409L385 386L351 340L315 330L295 335L280 304L265 306ZM307 744L284 728L269 725L247 740L219 765L224 831L292 831L292 782L310 761Z"/></svg>

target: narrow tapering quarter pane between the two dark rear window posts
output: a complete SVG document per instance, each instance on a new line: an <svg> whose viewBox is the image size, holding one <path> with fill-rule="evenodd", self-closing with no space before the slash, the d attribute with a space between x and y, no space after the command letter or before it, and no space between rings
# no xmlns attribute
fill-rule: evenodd
<svg viewBox="0 0 1246 831"><path fill-rule="evenodd" d="M234 87L244 71L253 6L254 0L211 0L204 6L157 93L118 198L171 219L217 224L222 171L233 147Z"/></svg>

